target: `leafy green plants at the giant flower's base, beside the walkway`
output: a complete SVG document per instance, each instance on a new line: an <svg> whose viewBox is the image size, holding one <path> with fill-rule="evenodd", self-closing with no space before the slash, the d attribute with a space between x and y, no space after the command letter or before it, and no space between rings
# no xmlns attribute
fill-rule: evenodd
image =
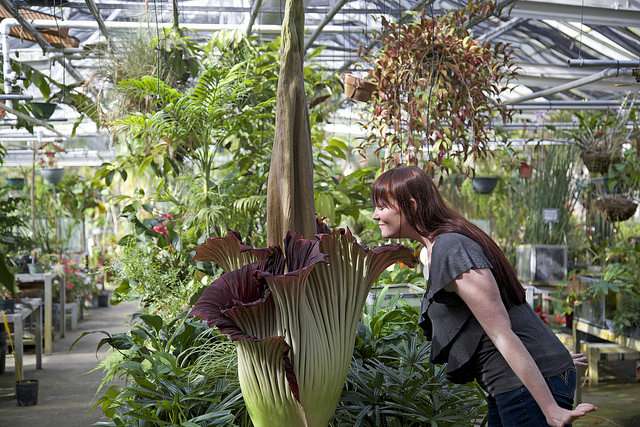
<svg viewBox="0 0 640 427"><path fill-rule="evenodd" d="M134 319L129 333L101 332L106 338L98 350L107 345L117 356L96 368L105 370L96 405L111 419L98 425L248 425L235 350L225 337L184 313L169 322L144 314ZM206 366L195 363L199 356Z"/></svg>

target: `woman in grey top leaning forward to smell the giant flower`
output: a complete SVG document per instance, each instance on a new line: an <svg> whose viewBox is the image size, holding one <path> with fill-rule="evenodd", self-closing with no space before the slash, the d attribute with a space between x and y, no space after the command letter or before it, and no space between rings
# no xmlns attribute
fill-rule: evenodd
<svg viewBox="0 0 640 427"><path fill-rule="evenodd" d="M389 170L372 196L383 237L427 248L420 326L432 341L431 360L447 362L451 381L475 379L487 391L489 426L564 426L596 409L588 403L572 409L572 355L525 302L498 246L445 204L424 171Z"/></svg>

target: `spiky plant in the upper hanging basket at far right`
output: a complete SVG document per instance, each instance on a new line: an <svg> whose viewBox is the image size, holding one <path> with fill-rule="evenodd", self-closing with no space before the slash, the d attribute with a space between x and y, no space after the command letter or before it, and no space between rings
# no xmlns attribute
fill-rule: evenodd
<svg viewBox="0 0 640 427"><path fill-rule="evenodd" d="M580 157L590 173L604 175L611 164L620 160L622 146L629 142L632 130L627 123L633 120L633 102L625 102L616 113L585 111L575 113L578 126L564 131L580 147Z"/></svg>

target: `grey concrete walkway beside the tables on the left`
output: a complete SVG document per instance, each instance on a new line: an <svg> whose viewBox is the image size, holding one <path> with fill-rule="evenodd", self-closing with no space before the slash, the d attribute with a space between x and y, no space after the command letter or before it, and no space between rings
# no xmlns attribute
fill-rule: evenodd
<svg viewBox="0 0 640 427"><path fill-rule="evenodd" d="M88 427L97 421L107 421L100 409L92 408L102 373L89 373L105 354L103 347L96 359L96 345L104 335L83 338L71 352L69 346L83 331L128 331L130 316L137 307L137 303L123 303L88 310L78 329L67 331L64 339L54 341L54 353L43 356L42 370L35 369L33 352L27 353L24 376L39 381L38 404L18 407L15 398L0 400L0 427ZM13 387L14 381L13 357L7 357L0 388Z"/></svg>

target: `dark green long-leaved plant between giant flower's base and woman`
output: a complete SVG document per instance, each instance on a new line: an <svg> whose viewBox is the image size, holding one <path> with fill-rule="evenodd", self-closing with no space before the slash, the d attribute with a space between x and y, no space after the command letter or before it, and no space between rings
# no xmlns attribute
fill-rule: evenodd
<svg viewBox="0 0 640 427"><path fill-rule="evenodd" d="M430 343L405 337L387 355L354 361L335 426L474 426L485 414L477 386L451 384L429 362Z"/></svg>

